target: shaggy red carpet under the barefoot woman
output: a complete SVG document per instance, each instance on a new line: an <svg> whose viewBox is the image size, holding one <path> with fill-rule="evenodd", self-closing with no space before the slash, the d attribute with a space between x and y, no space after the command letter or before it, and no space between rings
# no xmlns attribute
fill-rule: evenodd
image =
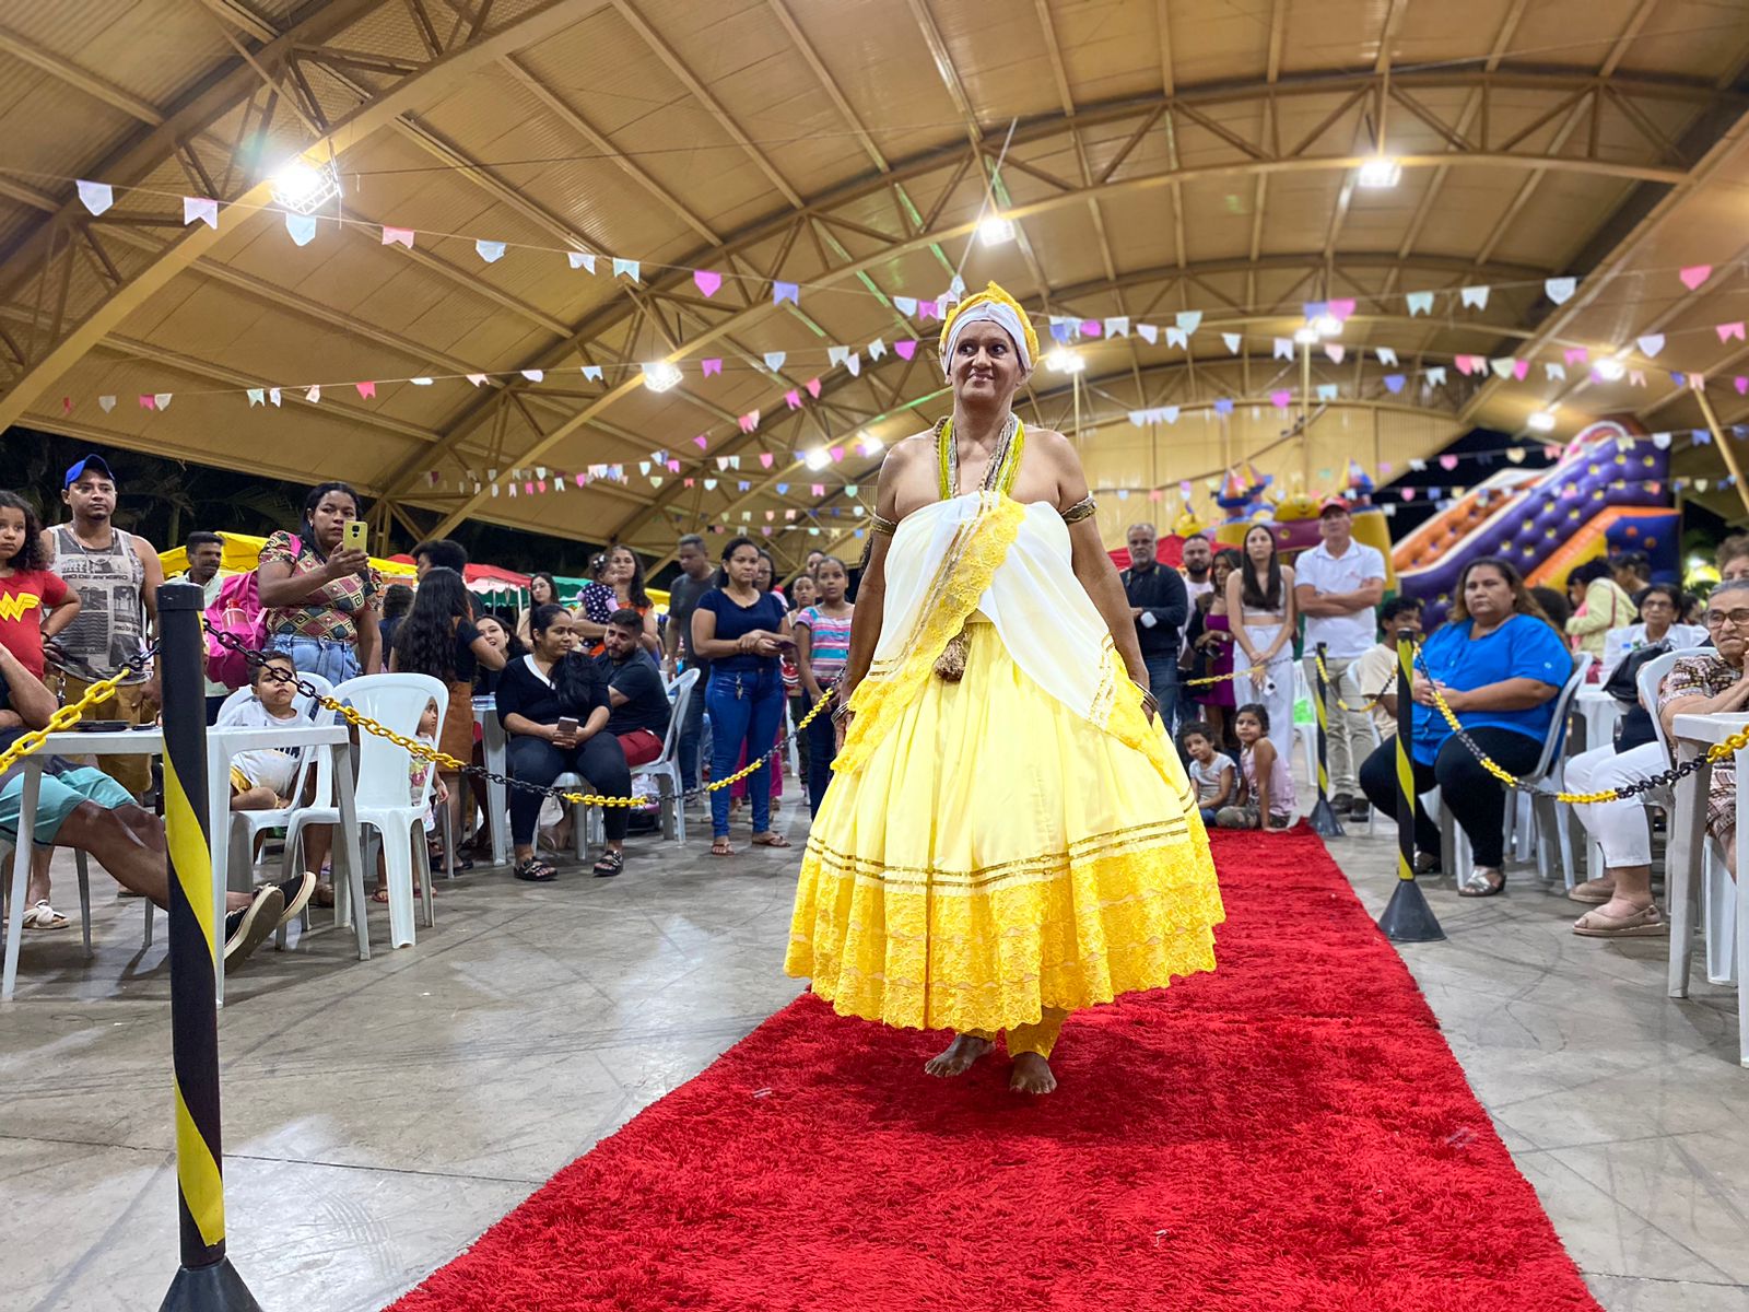
<svg viewBox="0 0 1749 1312"><path fill-rule="evenodd" d="M803 995L397 1312L1595 1309L1319 840L1216 855L1219 973L1072 1018L1056 1093Z"/></svg>

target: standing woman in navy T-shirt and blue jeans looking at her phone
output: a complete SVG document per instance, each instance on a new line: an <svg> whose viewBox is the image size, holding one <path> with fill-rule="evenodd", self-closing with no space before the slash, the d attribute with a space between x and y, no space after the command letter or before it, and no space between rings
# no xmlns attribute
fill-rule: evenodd
<svg viewBox="0 0 1749 1312"><path fill-rule="evenodd" d="M759 768L747 780L754 805L754 847L789 847L771 833L771 743L784 715L784 679L778 654L794 649L789 612L777 593L763 593L759 548L736 537L722 551L717 586L698 598L693 612L693 651L710 661L705 708L710 712L710 777L735 773L742 747ZM712 855L735 854L729 847L729 792L710 794Z"/></svg>

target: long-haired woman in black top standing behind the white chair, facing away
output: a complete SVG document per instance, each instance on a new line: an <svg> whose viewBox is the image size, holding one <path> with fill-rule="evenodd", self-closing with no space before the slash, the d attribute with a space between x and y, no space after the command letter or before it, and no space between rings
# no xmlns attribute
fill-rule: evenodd
<svg viewBox="0 0 1749 1312"><path fill-rule="evenodd" d="M504 668L504 649L493 646L474 626L472 598L462 576L441 565L425 572L413 593L413 609L395 630L395 647L388 653L392 673L429 673L449 689L449 707L442 717L437 749L456 761L474 756L474 675L481 666ZM441 771L449 789L449 833L462 833L462 785L453 770ZM467 869L470 861L458 861Z"/></svg>

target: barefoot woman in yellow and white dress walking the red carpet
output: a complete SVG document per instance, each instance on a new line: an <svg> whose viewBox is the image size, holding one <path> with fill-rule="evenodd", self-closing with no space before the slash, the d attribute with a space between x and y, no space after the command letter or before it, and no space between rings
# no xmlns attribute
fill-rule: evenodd
<svg viewBox="0 0 1749 1312"><path fill-rule="evenodd" d="M1070 1011L1212 971L1224 918L1081 462L1013 413L1037 355L1007 292L964 301L953 416L881 465L785 959L840 1015L955 1030L934 1076L1006 1030L1027 1093Z"/></svg>

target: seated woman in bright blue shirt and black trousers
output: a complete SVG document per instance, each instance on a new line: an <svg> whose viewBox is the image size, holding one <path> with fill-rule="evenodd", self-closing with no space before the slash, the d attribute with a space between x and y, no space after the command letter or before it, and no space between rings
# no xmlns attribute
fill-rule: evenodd
<svg viewBox="0 0 1749 1312"><path fill-rule="evenodd" d="M1469 836L1474 869L1460 897L1492 897L1506 887L1506 792L1452 733L1432 701L1436 686L1452 714L1494 761L1515 775L1543 756L1555 696L1572 673L1567 644L1544 618L1518 570L1495 556L1473 560L1457 579L1452 614L1422 647L1415 672L1410 764L1417 798L1439 785L1439 805ZM1427 675L1432 675L1432 686ZM1361 789L1378 810L1397 808L1396 743L1361 766ZM1438 868L1439 826L1415 803L1415 873Z"/></svg>

